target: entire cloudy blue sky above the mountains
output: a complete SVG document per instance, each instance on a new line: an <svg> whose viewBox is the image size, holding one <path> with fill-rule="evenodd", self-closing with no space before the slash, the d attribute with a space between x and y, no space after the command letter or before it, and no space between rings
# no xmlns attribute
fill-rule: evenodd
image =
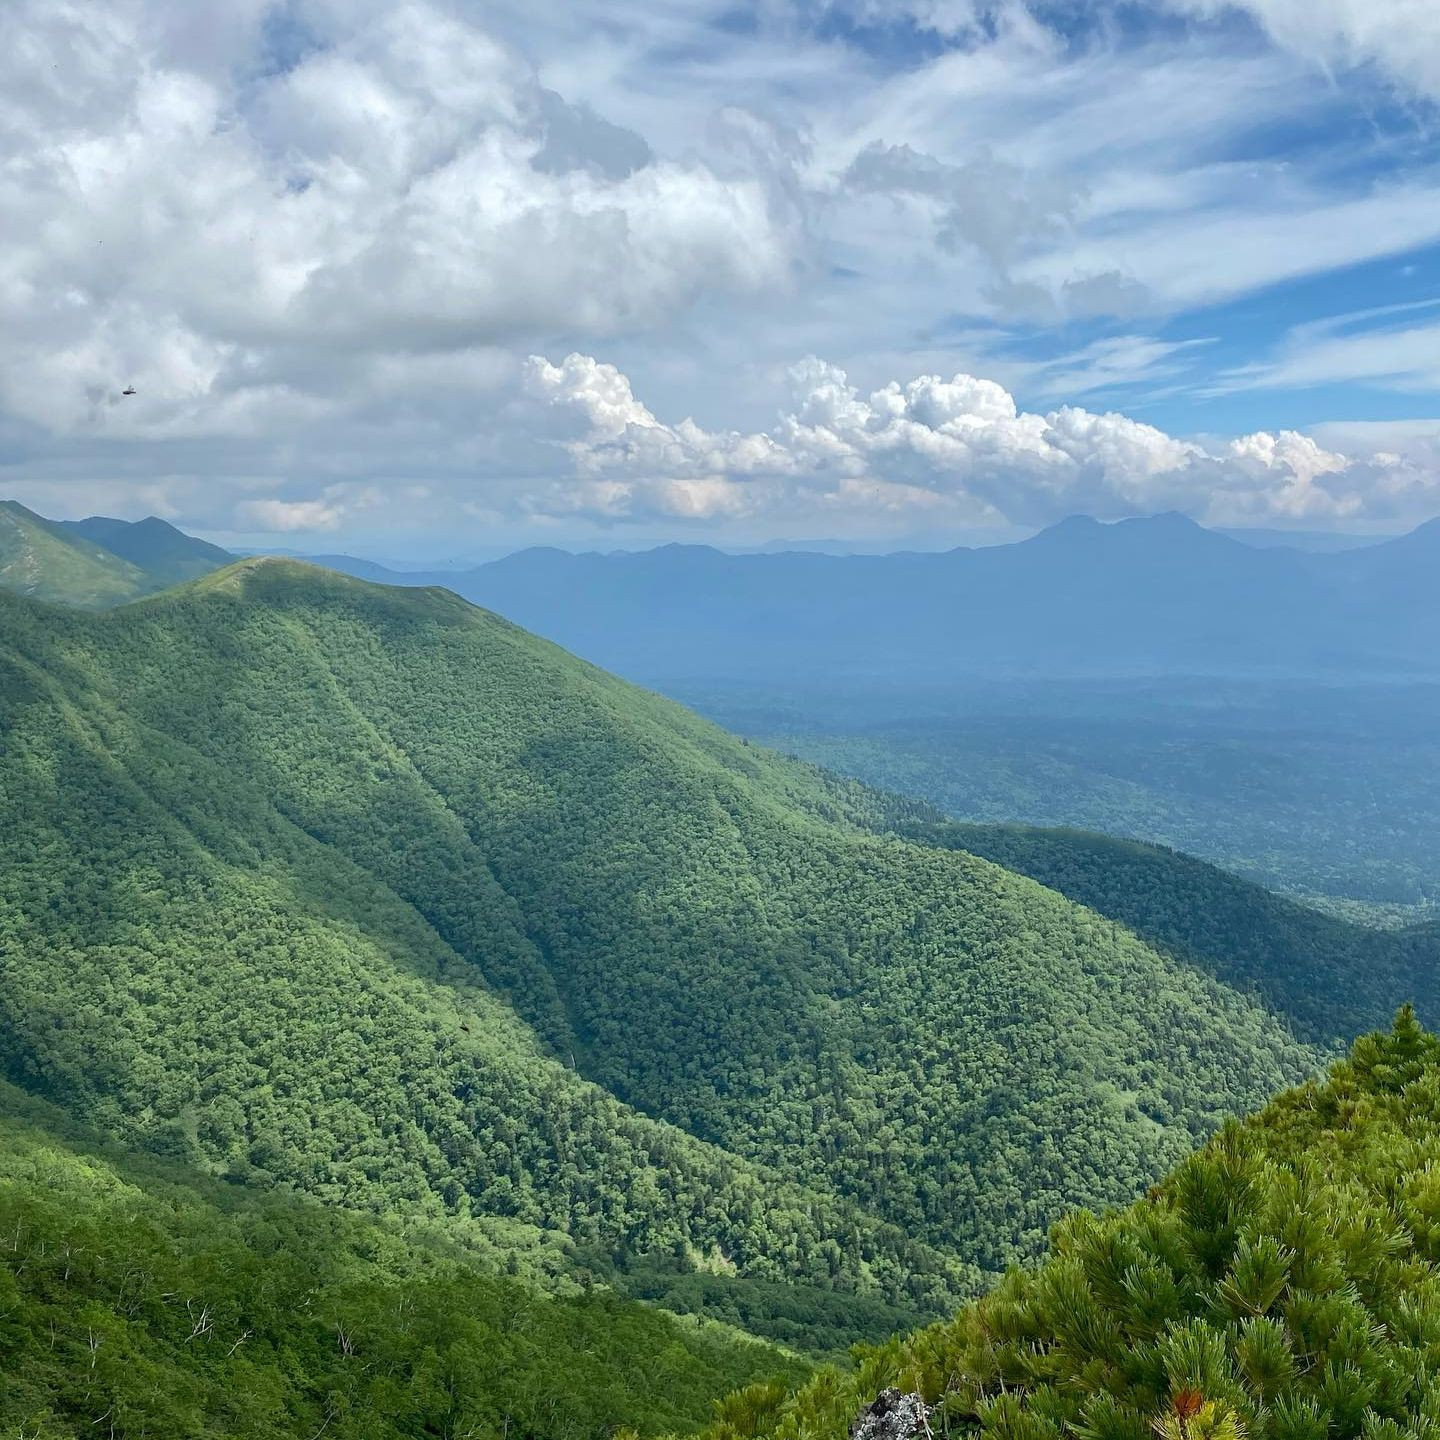
<svg viewBox="0 0 1440 1440"><path fill-rule="evenodd" d="M416 559L1404 530L1437 137L1434 0L6 0L0 497Z"/></svg>

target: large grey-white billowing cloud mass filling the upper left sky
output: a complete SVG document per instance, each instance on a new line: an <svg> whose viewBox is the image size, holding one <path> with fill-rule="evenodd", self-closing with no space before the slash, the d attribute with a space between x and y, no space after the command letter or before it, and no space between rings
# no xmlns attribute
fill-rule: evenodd
<svg viewBox="0 0 1440 1440"><path fill-rule="evenodd" d="M215 45L187 0L0 9L12 415L274 429L356 354L645 330L788 281L799 222L763 179L657 157L438 4L294 4L291 63L274 7L233 9Z"/></svg>

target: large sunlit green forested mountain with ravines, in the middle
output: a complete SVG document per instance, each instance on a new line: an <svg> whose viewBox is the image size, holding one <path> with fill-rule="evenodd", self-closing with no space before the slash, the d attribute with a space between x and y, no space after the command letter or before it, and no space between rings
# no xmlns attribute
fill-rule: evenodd
<svg viewBox="0 0 1440 1440"><path fill-rule="evenodd" d="M1319 1058L444 592L246 562L0 636L0 1064L192 1164L933 1308Z"/></svg>

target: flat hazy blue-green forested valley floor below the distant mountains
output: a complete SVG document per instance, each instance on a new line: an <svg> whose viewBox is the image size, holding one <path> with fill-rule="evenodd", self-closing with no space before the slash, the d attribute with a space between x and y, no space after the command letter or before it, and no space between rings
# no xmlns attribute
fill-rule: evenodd
<svg viewBox="0 0 1440 1440"><path fill-rule="evenodd" d="M1148 840L1302 897L1440 903L1440 688L1113 680L678 685L721 724L966 821Z"/></svg>

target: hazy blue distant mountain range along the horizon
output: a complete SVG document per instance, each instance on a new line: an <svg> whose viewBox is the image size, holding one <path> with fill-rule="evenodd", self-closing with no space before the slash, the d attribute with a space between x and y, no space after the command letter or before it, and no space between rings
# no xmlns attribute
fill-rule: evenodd
<svg viewBox="0 0 1440 1440"><path fill-rule="evenodd" d="M1333 553L1259 547L1166 514L1074 517L1017 544L943 553L531 549L410 573L315 559L445 586L657 683L1440 674L1440 521Z"/></svg>

